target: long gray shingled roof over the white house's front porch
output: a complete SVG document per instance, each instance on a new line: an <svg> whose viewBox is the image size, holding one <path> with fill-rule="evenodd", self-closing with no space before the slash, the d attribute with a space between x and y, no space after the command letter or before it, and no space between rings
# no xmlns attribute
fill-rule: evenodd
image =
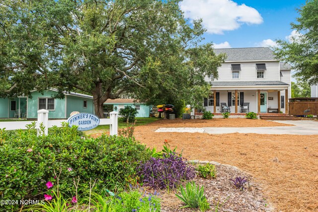
<svg viewBox="0 0 318 212"><path fill-rule="evenodd" d="M289 85L282 81L212 81L212 87L222 87L222 86L280 86L280 85Z"/></svg>

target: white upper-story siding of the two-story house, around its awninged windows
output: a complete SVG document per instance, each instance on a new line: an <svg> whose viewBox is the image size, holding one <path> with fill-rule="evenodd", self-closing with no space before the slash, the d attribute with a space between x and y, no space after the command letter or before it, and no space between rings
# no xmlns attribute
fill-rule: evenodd
<svg viewBox="0 0 318 212"><path fill-rule="evenodd" d="M279 62L257 62L265 63L266 71L264 71L264 78L256 77L256 62L245 62L245 63L223 63L218 68L219 78L215 81L279 81ZM239 79L232 79L231 64L240 64ZM209 77L205 77L206 81L211 81Z"/></svg>

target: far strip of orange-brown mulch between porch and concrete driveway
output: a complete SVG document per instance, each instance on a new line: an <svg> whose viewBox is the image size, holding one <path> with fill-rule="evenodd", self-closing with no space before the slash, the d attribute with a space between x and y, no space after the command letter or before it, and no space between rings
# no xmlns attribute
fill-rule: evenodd
<svg viewBox="0 0 318 212"><path fill-rule="evenodd" d="M289 124L282 124L278 122L265 121L262 119L175 119L175 120L158 120L151 123L152 127L279 127L279 126L293 126Z"/></svg>

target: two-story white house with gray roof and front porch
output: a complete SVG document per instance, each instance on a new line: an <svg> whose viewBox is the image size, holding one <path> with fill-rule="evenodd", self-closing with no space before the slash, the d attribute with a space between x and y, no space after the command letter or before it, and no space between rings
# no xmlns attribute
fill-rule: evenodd
<svg viewBox="0 0 318 212"><path fill-rule="evenodd" d="M204 107L213 113L288 113L291 67L275 58L267 47L215 49L225 53L219 77L211 83ZM287 98L286 98L287 97ZM242 110L243 109L243 110Z"/></svg>

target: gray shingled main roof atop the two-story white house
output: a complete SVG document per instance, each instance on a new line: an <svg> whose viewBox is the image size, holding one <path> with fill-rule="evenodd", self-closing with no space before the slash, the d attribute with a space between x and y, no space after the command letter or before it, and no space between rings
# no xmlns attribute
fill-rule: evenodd
<svg viewBox="0 0 318 212"><path fill-rule="evenodd" d="M268 47L214 49L219 55L227 54L225 61L268 61L276 60L274 52Z"/></svg>

